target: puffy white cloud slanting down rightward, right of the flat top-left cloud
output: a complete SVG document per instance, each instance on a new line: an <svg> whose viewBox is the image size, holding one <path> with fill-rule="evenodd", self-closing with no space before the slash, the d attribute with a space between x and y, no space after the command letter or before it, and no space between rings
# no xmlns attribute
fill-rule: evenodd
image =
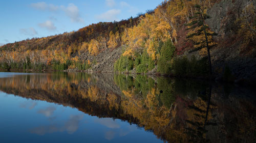
<svg viewBox="0 0 256 143"><path fill-rule="evenodd" d="M63 11L65 11L66 15L71 18L72 22L84 22L80 17L79 9L74 4L69 4L68 7L60 6Z"/></svg>

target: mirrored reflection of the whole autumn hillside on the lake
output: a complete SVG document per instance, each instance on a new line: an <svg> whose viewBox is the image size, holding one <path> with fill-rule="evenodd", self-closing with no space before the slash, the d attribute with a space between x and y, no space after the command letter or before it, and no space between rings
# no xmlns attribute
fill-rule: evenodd
<svg viewBox="0 0 256 143"><path fill-rule="evenodd" d="M135 123L168 142L255 141L256 107L249 90L100 73L16 75L0 81L0 90L8 94Z"/></svg>

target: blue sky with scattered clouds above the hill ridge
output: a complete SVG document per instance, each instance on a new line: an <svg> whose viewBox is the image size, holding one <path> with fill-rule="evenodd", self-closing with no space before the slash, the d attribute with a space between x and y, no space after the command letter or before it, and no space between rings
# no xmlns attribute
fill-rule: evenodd
<svg viewBox="0 0 256 143"><path fill-rule="evenodd" d="M33 37L47 37L99 21L120 21L163 0L9 0L0 2L0 45Z"/></svg>

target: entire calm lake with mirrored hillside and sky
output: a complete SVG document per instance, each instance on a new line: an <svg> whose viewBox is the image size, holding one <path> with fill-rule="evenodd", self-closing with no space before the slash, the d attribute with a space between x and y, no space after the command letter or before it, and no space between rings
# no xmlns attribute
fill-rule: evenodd
<svg viewBox="0 0 256 143"><path fill-rule="evenodd" d="M106 73L0 73L0 142L256 142L255 89Z"/></svg>

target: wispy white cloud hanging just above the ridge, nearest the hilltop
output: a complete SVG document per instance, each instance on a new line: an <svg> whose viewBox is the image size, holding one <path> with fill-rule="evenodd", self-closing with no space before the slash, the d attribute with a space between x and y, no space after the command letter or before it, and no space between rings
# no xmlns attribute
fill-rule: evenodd
<svg viewBox="0 0 256 143"><path fill-rule="evenodd" d="M100 15L97 15L96 18L103 21L118 21L117 16L121 13L121 10L112 9Z"/></svg>

